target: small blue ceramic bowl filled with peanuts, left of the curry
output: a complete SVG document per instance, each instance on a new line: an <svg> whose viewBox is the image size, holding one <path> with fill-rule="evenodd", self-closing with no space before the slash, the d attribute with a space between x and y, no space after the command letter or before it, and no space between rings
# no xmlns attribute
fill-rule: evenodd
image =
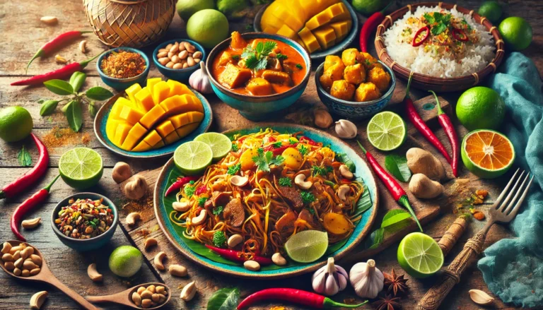
<svg viewBox="0 0 543 310"><path fill-rule="evenodd" d="M163 42L153 52L153 62L158 71L175 81L187 81L200 68L199 62L205 59L204 47L188 39Z"/></svg>

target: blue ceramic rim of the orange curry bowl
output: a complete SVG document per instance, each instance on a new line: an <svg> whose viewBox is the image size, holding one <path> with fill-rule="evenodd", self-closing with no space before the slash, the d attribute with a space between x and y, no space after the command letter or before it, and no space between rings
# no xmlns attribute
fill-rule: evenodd
<svg viewBox="0 0 543 310"><path fill-rule="evenodd" d="M309 81L309 77L311 76L311 66L312 66L311 57L309 56L308 51L306 51L305 48L303 46L301 46L298 42L296 42L296 41L294 41L294 40L292 40L292 39L290 39L288 37L284 37L282 35L272 35L270 33L264 33L264 32L245 32L245 33L242 33L241 36L244 39L257 39L257 38L266 38L266 37L268 37L268 38L271 38L273 40L279 40L281 42L285 42L286 44L290 45L291 47L293 45L298 47L299 51L296 50L296 52L301 51L300 54L303 56L303 60L305 60L305 66L306 66L305 76L303 76L302 81L300 81L300 83L298 83L298 85L294 85L293 88L287 90L284 93L273 94L273 95L265 95L265 96L253 96L253 95L245 95L245 94L234 93L232 90L224 87L221 83L218 83L218 81L216 81L216 79L214 78L213 74L211 74L212 71L210 71L211 70L210 66L213 64L213 60L217 56L218 52L222 52L223 49L225 49L224 45L230 44L230 41L232 40L232 37L228 37L226 40L224 40L223 42L217 44L213 49L211 49L211 52L209 52L209 59L211 59L211 60L206 62L206 70L209 73L209 80L211 81L211 83L213 83L213 85L216 86L216 88L220 89L222 91L222 93L225 93L229 97L242 97L242 98L245 98L245 99L255 98L255 99L258 99L259 102L266 102L266 101L279 100L279 99L281 99L283 97L291 96L294 93L298 92L300 90L300 88L305 88L307 86L307 83Z"/></svg>

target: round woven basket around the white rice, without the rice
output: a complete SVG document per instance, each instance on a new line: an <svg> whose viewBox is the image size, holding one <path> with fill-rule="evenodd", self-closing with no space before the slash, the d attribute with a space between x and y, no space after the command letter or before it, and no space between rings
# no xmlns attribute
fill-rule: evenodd
<svg viewBox="0 0 543 310"><path fill-rule="evenodd" d="M494 56L494 59L492 59L492 61L481 71L472 73L472 75L470 76L461 76L458 78L436 78L420 73L413 73L408 68L404 68L403 66L397 64L397 62L394 61L394 59L392 59L387 53L385 43L383 42L383 34L385 33L385 30L387 30L392 24L395 23L396 20L402 18L402 16L404 16L407 11L415 11L416 8L419 6L438 6L440 8L446 8L448 10L455 8L461 13L469 14L470 16L472 16L476 23L484 25L484 27L489 30L489 32L491 32L491 35L494 37L494 41L496 42L496 56ZM494 25L492 25L492 23L488 19L486 19L486 17L479 16L479 14L474 13L474 10L468 10L467 8L457 6L456 4L444 4L443 2L424 2L412 5L409 4L408 6L400 8L392 14L385 16L385 20L383 20L383 23L378 25L377 28L377 34L375 35L375 49L377 50L379 59L387 64L387 66L390 66L390 68L394 70L397 76L407 81L409 79L409 76L412 74L413 80L411 81L411 85L422 90L434 90L436 92L461 91L479 84L479 82L486 78L486 76L489 76L491 73L496 72L496 68L498 68L498 66L501 64L501 61L503 60L503 56L505 54L505 44L503 43L502 37L498 32L498 29Z"/></svg>

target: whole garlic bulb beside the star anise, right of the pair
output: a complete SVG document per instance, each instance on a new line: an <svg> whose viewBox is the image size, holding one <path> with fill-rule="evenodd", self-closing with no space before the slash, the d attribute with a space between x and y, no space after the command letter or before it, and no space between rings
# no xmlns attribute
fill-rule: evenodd
<svg viewBox="0 0 543 310"><path fill-rule="evenodd" d="M369 259L367 263L356 263L349 272L351 285L359 297L375 298L381 290L385 277L378 268L375 268L375 261Z"/></svg>

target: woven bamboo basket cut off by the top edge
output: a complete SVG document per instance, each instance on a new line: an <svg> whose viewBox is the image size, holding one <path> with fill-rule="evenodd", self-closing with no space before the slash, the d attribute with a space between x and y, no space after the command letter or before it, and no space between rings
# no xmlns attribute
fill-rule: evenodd
<svg viewBox="0 0 543 310"><path fill-rule="evenodd" d="M144 47L165 34L175 0L83 0L88 23L110 47Z"/></svg>

